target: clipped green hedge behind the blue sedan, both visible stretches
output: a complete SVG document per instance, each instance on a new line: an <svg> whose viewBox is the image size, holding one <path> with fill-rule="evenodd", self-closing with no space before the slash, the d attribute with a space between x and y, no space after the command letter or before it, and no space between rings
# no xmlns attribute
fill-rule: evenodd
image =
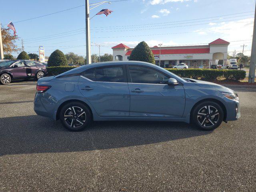
<svg viewBox="0 0 256 192"><path fill-rule="evenodd" d="M57 66L57 67L47 67L48 75L58 75L68 70L76 68L74 66ZM221 70L221 69L166 69L180 77L192 78L192 79L202 79L202 80L215 80L218 77L225 77L228 80L242 80L246 76L244 70Z"/></svg>

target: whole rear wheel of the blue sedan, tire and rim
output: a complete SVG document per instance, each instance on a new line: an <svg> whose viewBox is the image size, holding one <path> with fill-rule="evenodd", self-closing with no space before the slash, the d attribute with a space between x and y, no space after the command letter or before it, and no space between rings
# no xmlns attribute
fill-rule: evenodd
<svg viewBox="0 0 256 192"><path fill-rule="evenodd" d="M70 131L84 130L92 119L88 107L80 102L65 104L60 110L59 117L63 126Z"/></svg>

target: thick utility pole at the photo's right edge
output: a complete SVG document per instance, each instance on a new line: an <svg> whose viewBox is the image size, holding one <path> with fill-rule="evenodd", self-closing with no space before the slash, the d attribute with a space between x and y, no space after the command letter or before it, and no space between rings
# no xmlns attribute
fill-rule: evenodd
<svg viewBox="0 0 256 192"><path fill-rule="evenodd" d="M255 78L255 64L256 64L256 6L254 12L254 26L253 26L253 36L252 36L252 52L250 61L250 70L248 83L254 83Z"/></svg>

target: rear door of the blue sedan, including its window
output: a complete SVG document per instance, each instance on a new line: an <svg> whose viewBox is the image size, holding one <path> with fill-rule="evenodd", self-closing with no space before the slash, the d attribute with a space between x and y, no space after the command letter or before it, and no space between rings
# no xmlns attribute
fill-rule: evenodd
<svg viewBox="0 0 256 192"><path fill-rule="evenodd" d="M124 65L88 69L80 76L78 87L99 116L129 116L130 93Z"/></svg>

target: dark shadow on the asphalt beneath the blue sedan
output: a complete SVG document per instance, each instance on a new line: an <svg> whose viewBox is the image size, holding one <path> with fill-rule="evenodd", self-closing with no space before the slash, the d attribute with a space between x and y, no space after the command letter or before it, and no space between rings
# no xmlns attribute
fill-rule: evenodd
<svg viewBox="0 0 256 192"><path fill-rule="evenodd" d="M182 122L93 122L70 132L42 116L0 118L0 156L139 146L210 134Z"/></svg>

